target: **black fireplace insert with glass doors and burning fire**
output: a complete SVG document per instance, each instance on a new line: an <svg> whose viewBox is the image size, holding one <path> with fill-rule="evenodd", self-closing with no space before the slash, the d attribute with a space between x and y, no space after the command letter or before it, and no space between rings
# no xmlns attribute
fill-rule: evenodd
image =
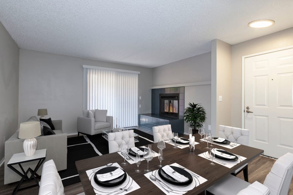
<svg viewBox="0 0 293 195"><path fill-rule="evenodd" d="M179 93L160 94L160 115L179 118Z"/></svg>

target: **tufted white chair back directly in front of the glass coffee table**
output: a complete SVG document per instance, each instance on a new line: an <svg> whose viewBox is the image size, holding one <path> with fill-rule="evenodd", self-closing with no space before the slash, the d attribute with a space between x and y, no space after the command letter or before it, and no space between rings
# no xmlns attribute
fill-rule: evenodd
<svg viewBox="0 0 293 195"><path fill-rule="evenodd" d="M135 147L133 130L118 131L108 134L109 153L121 150L122 144L128 144L129 148Z"/></svg>

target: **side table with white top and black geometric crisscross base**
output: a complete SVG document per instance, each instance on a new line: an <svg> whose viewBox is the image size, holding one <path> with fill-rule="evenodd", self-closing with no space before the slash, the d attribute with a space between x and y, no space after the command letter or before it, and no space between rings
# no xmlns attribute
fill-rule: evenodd
<svg viewBox="0 0 293 195"><path fill-rule="evenodd" d="M12 192L13 195L16 194L16 192L18 190L23 190L23 189L28 189L30 187L39 186L39 182L36 177L41 178L41 176L37 174L37 171L40 168L40 166L43 164L43 162L45 161L46 151L47 151L47 149L36 150L35 154L33 156L25 156L24 152L13 154L13 156L8 161L7 166L22 177L21 180L18 182L17 186L15 187L15 189L13 190L13 192ZM39 161L39 162L34 170L31 168L28 168L28 170L24 171L21 164L31 162L31 161ZM18 171L16 168L14 168L13 165L19 165L22 172ZM28 177L28 172L30 172L30 174L31 174L30 177ZM35 180L35 182L37 184L34 184L32 186L28 186L28 187L24 187L24 188L20 188L20 186L24 180L27 180L29 182L32 178Z"/></svg>

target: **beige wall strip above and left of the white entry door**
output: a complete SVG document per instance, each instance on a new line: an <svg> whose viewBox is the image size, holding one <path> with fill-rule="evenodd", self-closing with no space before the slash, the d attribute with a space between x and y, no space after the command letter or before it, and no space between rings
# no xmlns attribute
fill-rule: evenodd
<svg viewBox="0 0 293 195"><path fill-rule="evenodd" d="M261 30L261 29L260 29ZM231 50L231 125L241 127L242 56L293 45L293 28L232 45Z"/></svg>

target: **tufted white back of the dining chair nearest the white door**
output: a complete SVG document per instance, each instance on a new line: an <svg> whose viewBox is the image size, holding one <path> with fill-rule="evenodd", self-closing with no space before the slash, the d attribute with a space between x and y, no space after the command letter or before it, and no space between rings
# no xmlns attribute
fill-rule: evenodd
<svg viewBox="0 0 293 195"><path fill-rule="evenodd" d="M237 144L248 146L249 130L219 125L219 137Z"/></svg>

